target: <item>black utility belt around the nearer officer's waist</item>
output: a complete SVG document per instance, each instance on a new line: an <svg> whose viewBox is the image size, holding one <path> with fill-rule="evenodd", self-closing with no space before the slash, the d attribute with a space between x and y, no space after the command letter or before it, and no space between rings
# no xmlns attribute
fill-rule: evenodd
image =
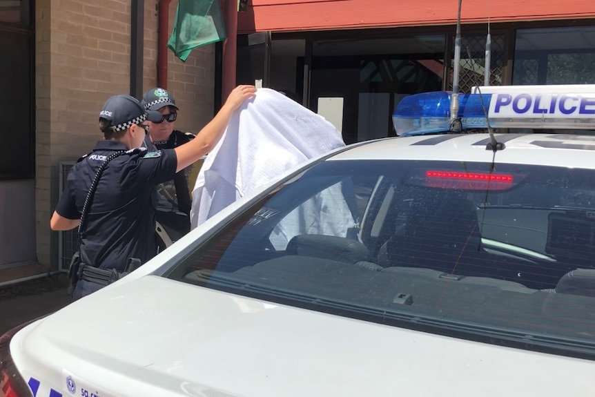
<svg viewBox="0 0 595 397"><path fill-rule="evenodd" d="M72 297L77 287L79 280L88 282L95 282L102 286L109 285L125 275L138 269L141 261L138 258L128 258L124 271L120 272L116 269L99 269L99 267L89 266L81 262L79 252L77 251L72 260L70 261L70 267L68 269L68 278L70 279L70 285L68 286L68 295Z"/></svg>

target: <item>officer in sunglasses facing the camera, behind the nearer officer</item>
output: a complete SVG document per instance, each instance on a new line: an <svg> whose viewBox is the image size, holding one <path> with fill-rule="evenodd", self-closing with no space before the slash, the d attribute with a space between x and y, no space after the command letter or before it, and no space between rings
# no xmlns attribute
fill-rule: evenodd
<svg viewBox="0 0 595 397"><path fill-rule="evenodd" d="M195 137L192 133L183 133L175 129L174 123L179 108L175 105L175 98L168 90L159 87L147 90L141 104L145 110L154 110L162 114L162 119L148 122L149 134L145 139L147 148L153 146L157 150L173 149L190 142ZM158 186L159 194L177 207L177 210L186 214L187 224L184 225L186 227L182 233L190 231L188 216L191 210L191 196L188 189L188 173L190 173L191 167L176 173L173 180Z"/></svg>

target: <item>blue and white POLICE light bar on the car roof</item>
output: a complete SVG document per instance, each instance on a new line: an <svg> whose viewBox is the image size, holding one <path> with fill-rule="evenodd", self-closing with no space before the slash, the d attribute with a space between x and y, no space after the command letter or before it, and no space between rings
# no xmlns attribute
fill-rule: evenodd
<svg viewBox="0 0 595 397"><path fill-rule="evenodd" d="M595 129L595 86L591 93L547 90L527 93L521 86L494 93L460 94L458 117L463 130L487 128ZM485 110L482 106L482 97ZM393 113L397 135L448 132L451 93L435 91L404 97Z"/></svg>

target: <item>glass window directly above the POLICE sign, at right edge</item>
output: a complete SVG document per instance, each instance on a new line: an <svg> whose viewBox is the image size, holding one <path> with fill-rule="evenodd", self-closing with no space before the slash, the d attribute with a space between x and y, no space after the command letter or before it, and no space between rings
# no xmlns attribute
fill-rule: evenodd
<svg viewBox="0 0 595 397"><path fill-rule="evenodd" d="M516 31L513 84L595 84L595 26Z"/></svg>

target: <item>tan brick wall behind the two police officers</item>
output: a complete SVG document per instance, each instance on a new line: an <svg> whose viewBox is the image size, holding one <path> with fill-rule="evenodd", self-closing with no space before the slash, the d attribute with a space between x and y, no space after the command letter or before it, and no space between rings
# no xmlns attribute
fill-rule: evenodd
<svg viewBox="0 0 595 397"><path fill-rule="evenodd" d="M173 28L177 1L170 3ZM157 84L157 0L145 1L143 85ZM57 263L49 219L59 197L59 162L88 153L101 133L104 101L130 91L130 0L36 1L37 259ZM186 63L170 52L168 89L181 109L176 127L196 132L212 117L214 46Z"/></svg>

